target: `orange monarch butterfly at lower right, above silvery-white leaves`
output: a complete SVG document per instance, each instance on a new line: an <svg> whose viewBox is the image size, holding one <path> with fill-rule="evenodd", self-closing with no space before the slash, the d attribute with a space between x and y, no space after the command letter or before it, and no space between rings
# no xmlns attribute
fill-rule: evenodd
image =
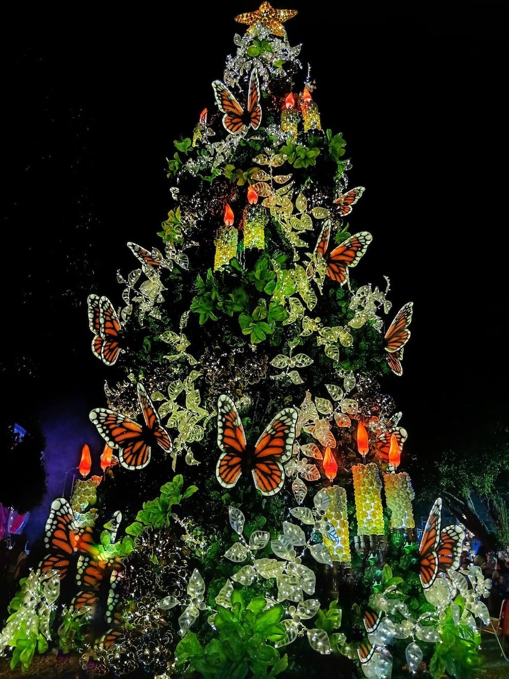
<svg viewBox="0 0 509 679"><path fill-rule="evenodd" d="M419 579L425 590L432 587L440 573L459 566L465 526L451 524L442 529L441 523L442 498L437 498L419 544Z"/></svg>

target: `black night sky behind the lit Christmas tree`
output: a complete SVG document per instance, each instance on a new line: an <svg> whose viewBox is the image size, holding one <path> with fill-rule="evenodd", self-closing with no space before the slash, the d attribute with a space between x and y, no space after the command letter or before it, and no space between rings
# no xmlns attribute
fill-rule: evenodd
<svg viewBox="0 0 509 679"><path fill-rule="evenodd" d="M388 276L394 313L414 301L403 375L387 389L407 447L433 452L438 432L482 430L508 405L506 2L275 6L299 11L288 39L303 44L322 128L347 141L349 186L366 187L350 225L373 242L356 280ZM41 417L62 470L100 445L88 412L105 405L109 375L90 351L88 294L119 304L128 240L161 246L166 156L214 106L210 84L245 31L234 17L257 7L4 20L1 375L14 417Z"/></svg>

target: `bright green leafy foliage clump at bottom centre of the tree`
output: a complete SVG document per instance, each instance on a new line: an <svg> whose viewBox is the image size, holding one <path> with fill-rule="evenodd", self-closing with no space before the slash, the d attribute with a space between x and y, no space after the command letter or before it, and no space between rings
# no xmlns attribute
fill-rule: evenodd
<svg viewBox="0 0 509 679"><path fill-rule="evenodd" d="M288 667L286 653L274 647L285 636L282 604L266 608L265 598L244 600L234 589L231 608L217 606L214 634L206 643L189 631L175 649L180 672L214 679L275 677Z"/></svg>

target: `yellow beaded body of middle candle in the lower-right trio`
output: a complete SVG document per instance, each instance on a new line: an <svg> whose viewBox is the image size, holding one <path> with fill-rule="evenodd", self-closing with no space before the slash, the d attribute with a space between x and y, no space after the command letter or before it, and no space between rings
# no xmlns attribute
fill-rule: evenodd
<svg viewBox="0 0 509 679"><path fill-rule="evenodd" d="M381 535L383 513L378 466L374 462L354 464L352 474L354 475L357 533L358 535Z"/></svg>

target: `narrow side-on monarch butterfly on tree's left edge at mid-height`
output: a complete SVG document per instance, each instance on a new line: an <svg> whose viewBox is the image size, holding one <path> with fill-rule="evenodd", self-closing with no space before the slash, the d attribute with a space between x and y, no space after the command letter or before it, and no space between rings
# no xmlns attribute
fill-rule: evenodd
<svg viewBox="0 0 509 679"><path fill-rule="evenodd" d="M115 365L121 352L121 324L108 297L88 295L88 325L94 333L92 352L105 365Z"/></svg>

